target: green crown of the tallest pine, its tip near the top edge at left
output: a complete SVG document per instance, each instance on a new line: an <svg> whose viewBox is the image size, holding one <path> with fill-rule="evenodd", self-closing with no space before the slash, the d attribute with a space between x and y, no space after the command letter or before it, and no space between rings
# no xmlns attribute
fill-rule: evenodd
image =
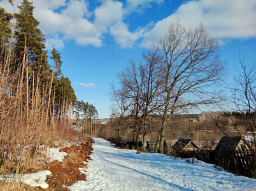
<svg viewBox="0 0 256 191"><path fill-rule="evenodd" d="M18 8L20 13L15 14L18 63L25 62L25 66L29 66L30 71L49 71L47 52L44 50L45 38L41 30L38 29L38 20L33 16L34 6L32 6L32 2L24 0ZM41 75L46 77L48 73L42 72Z"/></svg>

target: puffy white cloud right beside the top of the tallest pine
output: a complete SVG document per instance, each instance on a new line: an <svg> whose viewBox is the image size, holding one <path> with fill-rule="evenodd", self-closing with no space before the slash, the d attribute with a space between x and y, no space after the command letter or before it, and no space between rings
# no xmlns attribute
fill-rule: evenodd
<svg viewBox="0 0 256 191"><path fill-rule="evenodd" d="M50 7L45 1L35 0L34 5L34 15L40 22L40 29L48 36L74 39L78 45L102 45L101 31L86 18L91 15L87 1L64 1L64 4L55 3ZM60 11L54 11L55 9Z"/></svg>

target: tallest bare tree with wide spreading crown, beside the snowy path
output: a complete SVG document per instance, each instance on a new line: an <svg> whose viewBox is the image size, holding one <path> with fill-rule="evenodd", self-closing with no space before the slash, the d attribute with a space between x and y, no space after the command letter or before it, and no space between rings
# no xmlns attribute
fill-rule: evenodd
<svg viewBox="0 0 256 191"><path fill-rule="evenodd" d="M159 139L159 152L162 153L167 121L174 113L222 99L213 85L222 80L225 67L219 59L218 40L212 38L203 25L192 30L175 22L159 45L164 55L165 72L165 104Z"/></svg>

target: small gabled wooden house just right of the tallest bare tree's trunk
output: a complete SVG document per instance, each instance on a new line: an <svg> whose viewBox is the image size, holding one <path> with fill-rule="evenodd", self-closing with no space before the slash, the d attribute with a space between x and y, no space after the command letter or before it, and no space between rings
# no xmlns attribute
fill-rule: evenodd
<svg viewBox="0 0 256 191"><path fill-rule="evenodd" d="M191 150L199 150L199 147L196 145L196 143L193 142L192 139L180 138L173 145L174 152L191 151Z"/></svg>

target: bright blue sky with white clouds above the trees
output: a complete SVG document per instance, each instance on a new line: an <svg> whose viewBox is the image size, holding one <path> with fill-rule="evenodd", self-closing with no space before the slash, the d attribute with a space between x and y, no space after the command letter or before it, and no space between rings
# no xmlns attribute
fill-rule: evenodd
<svg viewBox="0 0 256 191"><path fill-rule="evenodd" d="M116 74L130 59L140 60L150 43L157 43L178 19L187 27L203 23L219 39L220 56L229 69L227 83L239 69L239 50L247 52L246 63L256 62L256 0L33 2L46 48L60 52L62 71L78 100L94 104L99 118L110 116L110 83L117 81ZM7 0L0 5L13 13Z"/></svg>

